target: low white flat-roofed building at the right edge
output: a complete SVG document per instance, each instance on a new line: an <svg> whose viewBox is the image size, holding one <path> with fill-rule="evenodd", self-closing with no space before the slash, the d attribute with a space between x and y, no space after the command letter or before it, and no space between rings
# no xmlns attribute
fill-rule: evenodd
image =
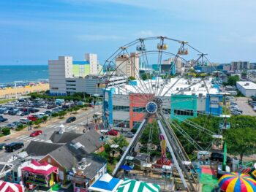
<svg viewBox="0 0 256 192"><path fill-rule="evenodd" d="M256 84L250 81L238 81L236 87L244 96L256 96Z"/></svg>

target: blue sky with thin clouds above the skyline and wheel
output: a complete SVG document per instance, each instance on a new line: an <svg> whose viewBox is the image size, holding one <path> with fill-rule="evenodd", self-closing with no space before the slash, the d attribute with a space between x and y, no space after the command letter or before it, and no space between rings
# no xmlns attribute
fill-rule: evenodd
<svg viewBox="0 0 256 192"><path fill-rule="evenodd" d="M139 37L187 40L211 61L256 61L255 0L1 0L0 65L104 61Z"/></svg>

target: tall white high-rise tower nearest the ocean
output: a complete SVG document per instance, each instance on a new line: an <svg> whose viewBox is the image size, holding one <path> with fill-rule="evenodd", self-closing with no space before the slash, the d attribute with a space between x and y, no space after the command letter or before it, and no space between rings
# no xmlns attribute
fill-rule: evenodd
<svg viewBox="0 0 256 192"><path fill-rule="evenodd" d="M48 61L50 94L66 95L66 78L72 78L72 57L59 56L58 60Z"/></svg>

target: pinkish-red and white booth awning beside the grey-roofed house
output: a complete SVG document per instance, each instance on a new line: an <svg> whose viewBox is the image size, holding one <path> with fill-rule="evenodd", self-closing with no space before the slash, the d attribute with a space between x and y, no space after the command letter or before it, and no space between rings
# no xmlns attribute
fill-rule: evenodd
<svg viewBox="0 0 256 192"><path fill-rule="evenodd" d="M45 174L45 175L48 175L52 172L58 173L59 171L58 167L56 166L52 166L47 162L40 164L35 160L31 160L31 164L23 167L21 170L26 172L31 172L34 174Z"/></svg>

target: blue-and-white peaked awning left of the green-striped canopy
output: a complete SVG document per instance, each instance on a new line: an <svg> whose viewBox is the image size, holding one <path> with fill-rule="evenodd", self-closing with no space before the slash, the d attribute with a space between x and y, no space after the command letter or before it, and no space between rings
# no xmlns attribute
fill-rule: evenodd
<svg viewBox="0 0 256 192"><path fill-rule="evenodd" d="M113 192L116 191L118 186L123 183L123 180L112 177L110 174L105 173L102 177L99 177L99 180L95 181L89 187L90 191L99 191L99 192Z"/></svg>

